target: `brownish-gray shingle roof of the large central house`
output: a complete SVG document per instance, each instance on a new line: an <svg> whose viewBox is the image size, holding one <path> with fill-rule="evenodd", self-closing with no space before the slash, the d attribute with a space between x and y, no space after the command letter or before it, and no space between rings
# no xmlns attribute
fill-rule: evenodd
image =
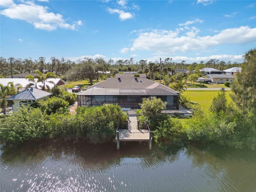
<svg viewBox="0 0 256 192"><path fill-rule="evenodd" d="M117 88L117 89L163 89L168 92L179 94L179 92L154 82L147 78L109 78L87 88Z"/></svg>

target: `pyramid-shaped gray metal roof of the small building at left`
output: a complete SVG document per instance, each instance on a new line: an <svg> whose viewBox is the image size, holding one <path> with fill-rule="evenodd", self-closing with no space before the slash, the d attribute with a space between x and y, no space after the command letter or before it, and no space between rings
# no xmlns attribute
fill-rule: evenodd
<svg viewBox="0 0 256 192"><path fill-rule="evenodd" d="M36 89L36 88L27 88L22 92L19 92L6 100L38 100L46 96L50 96L51 93Z"/></svg>

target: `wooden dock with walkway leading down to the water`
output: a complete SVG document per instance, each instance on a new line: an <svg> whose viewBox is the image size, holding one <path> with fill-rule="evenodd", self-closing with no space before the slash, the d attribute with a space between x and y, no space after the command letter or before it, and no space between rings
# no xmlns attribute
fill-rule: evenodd
<svg viewBox="0 0 256 192"><path fill-rule="evenodd" d="M137 116L134 110L128 111L128 129L116 130L116 146L120 148L121 141L148 141L152 148L152 132L150 129L138 129Z"/></svg>

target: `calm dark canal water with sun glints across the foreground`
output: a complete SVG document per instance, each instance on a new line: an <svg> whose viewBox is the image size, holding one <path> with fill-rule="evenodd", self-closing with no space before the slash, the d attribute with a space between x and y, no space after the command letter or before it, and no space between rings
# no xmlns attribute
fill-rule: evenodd
<svg viewBox="0 0 256 192"><path fill-rule="evenodd" d="M0 191L255 192L256 153L56 141L0 150Z"/></svg>

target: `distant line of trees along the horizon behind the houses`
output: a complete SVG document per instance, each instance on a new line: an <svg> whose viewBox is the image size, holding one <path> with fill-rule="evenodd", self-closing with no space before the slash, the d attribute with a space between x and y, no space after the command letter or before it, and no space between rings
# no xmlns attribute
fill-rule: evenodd
<svg viewBox="0 0 256 192"><path fill-rule="evenodd" d="M3 58L0 57L0 77L4 78L13 74L19 73L32 73L35 70L41 73L55 73L56 76L68 80L84 80L89 79L91 84L93 80L99 78L106 78L105 72L110 72L114 75L118 72L137 72L147 74L147 77L152 80L164 79L166 75L172 74L176 69L200 70L202 68L216 68L218 70L225 70L232 67L242 66L241 63L231 63L211 59L207 62L201 61L200 63L193 62L191 64L182 62L173 62L172 58L166 58L163 61L148 61L140 60L135 62L133 58L129 60L114 60L108 61L103 58L84 58L76 62L64 58L58 59L51 57L50 62L46 62L46 58L39 57L37 60L32 58Z"/></svg>

